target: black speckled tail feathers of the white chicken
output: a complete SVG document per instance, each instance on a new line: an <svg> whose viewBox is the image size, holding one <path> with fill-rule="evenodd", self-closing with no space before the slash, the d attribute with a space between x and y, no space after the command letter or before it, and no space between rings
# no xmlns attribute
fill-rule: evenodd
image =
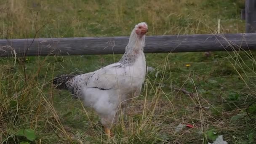
<svg viewBox="0 0 256 144"><path fill-rule="evenodd" d="M60 75L53 78L53 84L56 85L56 89L68 89L69 85L67 82L75 77L75 75Z"/></svg>

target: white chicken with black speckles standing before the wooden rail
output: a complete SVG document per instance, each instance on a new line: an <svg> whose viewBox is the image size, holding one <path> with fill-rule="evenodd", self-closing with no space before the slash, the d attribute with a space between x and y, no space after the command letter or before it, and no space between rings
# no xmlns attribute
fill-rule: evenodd
<svg viewBox="0 0 256 144"><path fill-rule="evenodd" d="M117 63L82 75L61 75L53 79L57 89L69 90L75 98L92 107L101 117L105 132L117 121L118 108L124 107L141 92L146 75L146 59L143 52L145 22L136 24L131 32L125 53Z"/></svg>

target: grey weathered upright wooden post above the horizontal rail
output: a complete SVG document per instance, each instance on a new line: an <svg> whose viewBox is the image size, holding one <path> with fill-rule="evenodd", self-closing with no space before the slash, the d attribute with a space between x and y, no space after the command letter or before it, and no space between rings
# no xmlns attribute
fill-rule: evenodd
<svg viewBox="0 0 256 144"><path fill-rule="evenodd" d="M256 0L245 0L246 33L256 32Z"/></svg>

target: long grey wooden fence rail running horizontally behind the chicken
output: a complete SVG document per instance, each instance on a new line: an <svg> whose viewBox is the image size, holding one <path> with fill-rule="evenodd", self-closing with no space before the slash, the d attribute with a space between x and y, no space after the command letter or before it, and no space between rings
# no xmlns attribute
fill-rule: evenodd
<svg viewBox="0 0 256 144"><path fill-rule="evenodd" d="M0 40L0 57L122 54L128 37L77 37ZM146 36L145 53L256 50L256 33Z"/></svg>

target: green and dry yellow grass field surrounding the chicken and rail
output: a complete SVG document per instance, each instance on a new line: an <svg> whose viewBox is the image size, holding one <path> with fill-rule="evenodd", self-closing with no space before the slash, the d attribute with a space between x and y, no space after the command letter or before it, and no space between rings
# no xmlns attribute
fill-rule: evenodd
<svg viewBox="0 0 256 144"><path fill-rule="evenodd" d="M244 0L2 0L0 38L128 36L141 21L147 35L241 33L243 7ZM0 143L208 144L223 135L229 144L254 144L246 108L256 99L255 55L146 54L155 71L112 139L92 109L53 89L51 79L94 71L121 55L0 58ZM256 118L256 104L248 113ZM179 123L194 127L175 132Z"/></svg>

